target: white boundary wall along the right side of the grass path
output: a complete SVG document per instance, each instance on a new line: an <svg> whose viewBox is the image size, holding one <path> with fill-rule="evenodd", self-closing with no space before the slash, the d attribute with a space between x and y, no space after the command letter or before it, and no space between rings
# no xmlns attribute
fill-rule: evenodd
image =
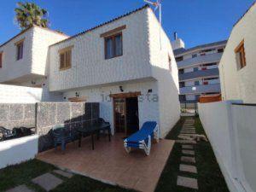
<svg viewBox="0 0 256 192"><path fill-rule="evenodd" d="M198 109L230 191L256 192L256 106L230 101Z"/></svg>

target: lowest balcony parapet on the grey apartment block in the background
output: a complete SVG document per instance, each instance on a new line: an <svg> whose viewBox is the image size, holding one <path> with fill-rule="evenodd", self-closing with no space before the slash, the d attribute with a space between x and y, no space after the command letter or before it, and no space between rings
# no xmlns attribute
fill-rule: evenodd
<svg viewBox="0 0 256 192"><path fill-rule="evenodd" d="M207 92L220 92L220 84L206 84L195 86L196 90L192 90L192 87L182 87L180 88L180 95L186 94L201 94Z"/></svg>

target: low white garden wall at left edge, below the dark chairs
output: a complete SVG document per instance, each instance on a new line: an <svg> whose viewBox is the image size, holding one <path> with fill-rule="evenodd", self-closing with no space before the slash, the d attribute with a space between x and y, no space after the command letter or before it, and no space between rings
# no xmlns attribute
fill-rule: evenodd
<svg viewBox="0 0 256 192"><path fill-rule="evenodd" d="M0 142L0 169L33 159L38 154L38 135Z"/></svg>

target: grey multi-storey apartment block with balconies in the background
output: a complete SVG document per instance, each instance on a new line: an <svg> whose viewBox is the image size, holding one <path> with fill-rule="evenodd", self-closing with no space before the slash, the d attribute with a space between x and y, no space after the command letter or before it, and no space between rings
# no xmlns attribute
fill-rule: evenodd
<svg viewBox="0 0 256 192"><path fill-rule="evenodd" d="M220 94L218 64L227 41L202 44L185 49L181 38L174 33L172 49L177 61L179 100L182 108L196 108L200 96ZM193 90L194 87L194 90Z"/></svg>

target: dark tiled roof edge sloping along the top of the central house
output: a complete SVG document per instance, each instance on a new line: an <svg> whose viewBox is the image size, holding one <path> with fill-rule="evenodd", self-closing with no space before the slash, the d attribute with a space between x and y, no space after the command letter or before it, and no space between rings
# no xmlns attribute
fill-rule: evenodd
<svg viewBox="0 0 256 192"><path fill-rule="evenodd" d="M85 30L84 32L79 32L78 34L75 34L75 35L73 35L73 36L70 37L70 38L66 38L66 39L64 39L64 40L62 40L62 41L60 41L60 42L57 42L57 43L55 43L55 44L52 44L52 45L50 45L50 46L54 46L54 45L56 45L56 44L61 44L62 42L65 42L65 41L67 41L67 40L69 40L69 39L71 39L71 38L76 38L76 37L78 37L78 36L80 36L80 35L83 35L83 34L86 33L86 32L91 32L91 31L93 31L93 30L96 30L96 28L99 28L99 27L101 27L101 26L105 26L105 25L107 25L107 24L109 24L109 23L112 23L112 22L115 21L115 20L120 20L120 19L122 19L122 18L124 18L124 17L126 17L126 16L129 16L129 15L131 15L131 14L134 14L134 13L136 13L136 12L142 10L142 9L146 9L146 8L150 8L149 4L145 4L145 5L144 5L143 7L141 7L141 8L132 10L132 11L126 13L125 15L120 15L119 17L116 17L116 18L114 18L114 19L112 19L112 20L108 20L108 21L106 21L106 22L103 22L102 24L100 24L100 25L98 25L98 26L94 26L94 27L92 27L92 28L90 28L90 29L87 29L87 30Z"/></svg>

